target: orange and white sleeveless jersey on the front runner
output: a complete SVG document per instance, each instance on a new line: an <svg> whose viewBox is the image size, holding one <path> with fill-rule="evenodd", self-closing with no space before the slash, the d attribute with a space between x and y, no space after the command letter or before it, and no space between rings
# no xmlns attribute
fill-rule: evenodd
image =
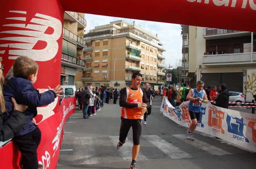
<svg viewBox="0 0 256 169"><path fill-rule="evenodd" d="M132 90L130 87L126 87L126 101L128 103L142 103L143 91L141 88L138 90ZM122 107L122 118L128 119L143 119L141 108L127 108Z"/></svg>

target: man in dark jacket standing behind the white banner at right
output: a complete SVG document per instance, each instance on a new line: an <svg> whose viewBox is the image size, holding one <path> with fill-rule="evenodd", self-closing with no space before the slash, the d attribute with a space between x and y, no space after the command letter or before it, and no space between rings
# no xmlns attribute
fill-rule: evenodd
<svg viewBox="0 0 256 169"><path fill-rule="evenodd" d="M218 97L215 99L216 106L223 107L228 109L229 102L229 92L227 90L227 86L225 84L220 85L221 93L219 93Z"/></svg>

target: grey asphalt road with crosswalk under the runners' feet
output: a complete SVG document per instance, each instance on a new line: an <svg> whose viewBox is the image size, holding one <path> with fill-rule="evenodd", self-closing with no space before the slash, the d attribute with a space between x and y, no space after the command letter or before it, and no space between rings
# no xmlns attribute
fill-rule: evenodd
<svg viewBox="0 0 256 169"><path fill-rule="evenodd" d="M179 127L160 113L155 98L152 113L143 125L138 169L241 169L255 168L256 153L195 132L195 141L186 139L186 127ZM240 110L241 111L241 110ZM128 141L116 149L121 124L119 104L105 104L90 119L76 110L65 124L57 169L128 169L131 163L132 129ZM69 123L71 121L71 123ZM74 123L75 122L75 123Z"/></svg>

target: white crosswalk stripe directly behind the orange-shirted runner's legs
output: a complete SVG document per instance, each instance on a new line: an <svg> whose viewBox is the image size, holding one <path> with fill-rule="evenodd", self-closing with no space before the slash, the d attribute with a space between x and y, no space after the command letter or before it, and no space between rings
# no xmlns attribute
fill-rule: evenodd
<svg viewBox="0 0 256 169"><path fill-rule="evenodd" d="M114 145L114 148L116 149L116 145L119 142L119 136L109 136L109 138L111 139L111 142ZM132 146L133 146L133 142L132 140L130 141L129 139L125 142L125 144L123 145L122 149L118 150L116 149L116 151L120 153L120 155L122 156L123 160L132 160ZM137 160L148 160L148 158L143 155L142 152L139 152Z"/></svg>

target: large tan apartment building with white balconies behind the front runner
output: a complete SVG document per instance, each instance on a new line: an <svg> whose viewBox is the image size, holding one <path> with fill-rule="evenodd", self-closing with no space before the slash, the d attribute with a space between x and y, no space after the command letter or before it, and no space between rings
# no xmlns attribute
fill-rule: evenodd
<svg viewBox="0 0 256 169"><path fill-rule="evenodd" d="M84 36L84 85L123 88L131 85L134 72L143 75L143 85L158 90L163 85L166 51L157 35L123 20L95 27Z"/></svg>

